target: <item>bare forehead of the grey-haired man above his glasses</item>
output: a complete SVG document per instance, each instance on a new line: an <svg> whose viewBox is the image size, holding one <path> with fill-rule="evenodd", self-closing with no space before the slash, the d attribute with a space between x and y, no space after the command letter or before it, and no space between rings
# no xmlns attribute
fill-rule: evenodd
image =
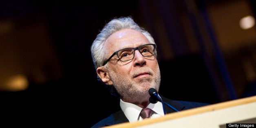
<svg viewBox="0 0 256 128"><path fill-rule="evenodd" d="M149 43L148 39L141 32L133 29L122 29L110 35L104 46L112 53L120 49L133 48Z"/></svg>

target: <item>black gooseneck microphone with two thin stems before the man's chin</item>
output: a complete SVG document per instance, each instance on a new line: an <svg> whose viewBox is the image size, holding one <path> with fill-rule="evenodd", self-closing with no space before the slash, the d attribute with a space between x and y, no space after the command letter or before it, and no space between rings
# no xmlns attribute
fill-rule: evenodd
<svg viewBox="0 0 256 128"><path fill-rule="evenodd" d="M149 97L149 102L150 102L150 103L156 104L158 101L162 103L164 114L166 114L166 109L165 109L164 104L166 104L168 107L172 108L172 109L175 110L176 112L179 112L179 110L177 110L176 108L174 108L174 107L171 106L170 104L167 104L166 102L163 102L162 98L159 97L159 95L158 95L156 89L150 88L150 89L148 90L148 93L149 93L149 95L150 95L150 97Z"/></svg>

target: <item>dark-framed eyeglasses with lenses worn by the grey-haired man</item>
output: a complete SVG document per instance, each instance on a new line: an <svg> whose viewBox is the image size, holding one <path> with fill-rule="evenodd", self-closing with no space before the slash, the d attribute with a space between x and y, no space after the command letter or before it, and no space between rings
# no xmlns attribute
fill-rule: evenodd
<svg viewBox="0 0 256 128"><path fill-rule="evenodd" d="M135 54L135 50L138 50L139 53L141 53L141 55L143 57L150 57L153 56L155 54L155 49L156 49L156 44L144 44L135 48L125 48L125 49L121 49L116 51L115 53L113 53L106 62L103 63L102 66L104 66L105 64L107 64L107 62L114 56L117 55L117 57L119 58L119 60L121 61L128 61L128 60L132 60Z"/></svg>

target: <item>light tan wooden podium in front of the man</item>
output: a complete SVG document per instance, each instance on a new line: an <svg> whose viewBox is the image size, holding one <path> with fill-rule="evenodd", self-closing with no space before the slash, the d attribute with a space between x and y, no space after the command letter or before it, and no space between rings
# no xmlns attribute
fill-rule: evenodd
<svg viewBox="0 0 256 128"><path fill-rule="evenodd" d="M104 128L226 128L256 123L256 96L170 113L164 117ZM256 126L254 126L256 127Z"/></svg>

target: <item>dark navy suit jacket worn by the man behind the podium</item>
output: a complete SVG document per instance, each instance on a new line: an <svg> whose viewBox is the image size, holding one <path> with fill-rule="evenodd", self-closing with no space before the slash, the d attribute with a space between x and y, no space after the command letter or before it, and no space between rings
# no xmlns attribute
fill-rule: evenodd
<svg viewBox="0 0 256 128"><path fill-rule="evenodd" d="M171 106L173 106L174 108L176 108L179 111L209 105L209 104L199 103L199 102L175 101L175 100L167 99L163 96L161 96L161 98L162 98L163 102L170 104ZM169 106L166 106L166 105L165 105L165 109L166 109L166 113L176 112L175 110L173 110L172 108L170 108ZM129 122L129 120L126 118L126 116L124 115L124 112L120 108L119 111L111 114L109 117L107 117L105 119L102 119L101 121L99 121L97 124L95 124L91 128L100 128L100 127L110 126L110 125L114 125L114 124L120 124L120 123L124 123L124 122Z"/></svg>

